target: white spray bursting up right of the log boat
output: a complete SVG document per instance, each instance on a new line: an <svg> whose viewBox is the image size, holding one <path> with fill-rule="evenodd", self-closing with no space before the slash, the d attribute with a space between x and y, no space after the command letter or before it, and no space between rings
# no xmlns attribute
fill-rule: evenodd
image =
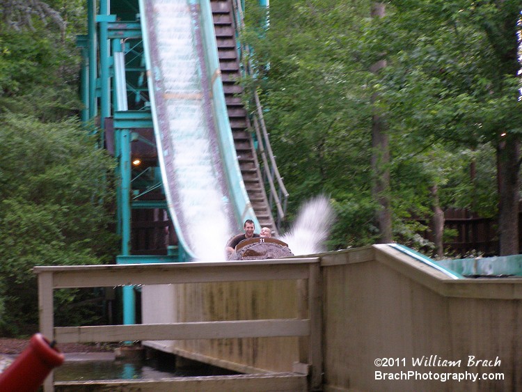
<svg viewBox="0 0 522 392"><path fill-rule="evenodd" d="M317 196L304 203L294 225L281 237L294 255L309 255L326 251L333 210L326 196Z"/></svg>

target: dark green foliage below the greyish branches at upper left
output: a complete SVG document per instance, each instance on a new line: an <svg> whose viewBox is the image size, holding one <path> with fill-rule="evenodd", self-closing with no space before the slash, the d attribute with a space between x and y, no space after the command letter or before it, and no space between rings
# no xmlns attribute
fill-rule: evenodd
<svg viewBox="0 0 522 392"><path fill-rule="evenodd" d="M32 29L0 24L0 112L31 114L44 121L77 114L79 51L72 28L79 20L84 23L77 19L82 15L69 15L65 31L40 19Z"/></svg>

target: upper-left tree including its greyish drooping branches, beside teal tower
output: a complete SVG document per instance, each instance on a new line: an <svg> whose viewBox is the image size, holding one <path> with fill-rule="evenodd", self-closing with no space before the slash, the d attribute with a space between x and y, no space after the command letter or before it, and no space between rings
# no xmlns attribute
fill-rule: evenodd
<svg viewBox="0 0 522 392"><path fill-rule="evenodd" d="M44 121L76 116L81 107L80 61L74 53L76 36L85 29L79 23L85 21L84 7L78 7L77 0L66 7L55 1L64 19L41 1L1 3L0 111L28 113Z"/></svg>

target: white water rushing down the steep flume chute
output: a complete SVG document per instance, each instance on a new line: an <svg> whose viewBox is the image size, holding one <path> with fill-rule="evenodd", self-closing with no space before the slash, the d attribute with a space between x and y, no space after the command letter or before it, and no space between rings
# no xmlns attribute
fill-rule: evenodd
<svg viewBox="0 0 522 392"><path fill-rule="evenodd" d="M147 15L160 128L156 138L171 217L193 256L223 260L233 213L198 49L196 7L187 0L153 0Z"/></svg>

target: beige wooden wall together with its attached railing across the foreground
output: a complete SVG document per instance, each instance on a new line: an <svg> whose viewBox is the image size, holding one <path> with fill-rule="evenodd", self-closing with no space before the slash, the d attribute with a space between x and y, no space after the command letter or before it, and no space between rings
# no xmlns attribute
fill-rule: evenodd
<svg viewBox="0 0 522 392"><path fill-rule="evenodd" d="M35 270L41 331L58 344L134 335L158 350L248 373L143 380L143 391L191 391L203 382L205 391L522 390L522 279L455 280L385 244L285 260ZM118 284L145 284L148 327L54 327L55 288ZM413 366L422 356L453 364ZM500 363L469 366L469 356ZM375 364L396 358L400 368ZM387 370L497 378L377 379ZM137 383L90 382L100 391L130 391ZM56 388L80 388L68 384Z"/></svg>

